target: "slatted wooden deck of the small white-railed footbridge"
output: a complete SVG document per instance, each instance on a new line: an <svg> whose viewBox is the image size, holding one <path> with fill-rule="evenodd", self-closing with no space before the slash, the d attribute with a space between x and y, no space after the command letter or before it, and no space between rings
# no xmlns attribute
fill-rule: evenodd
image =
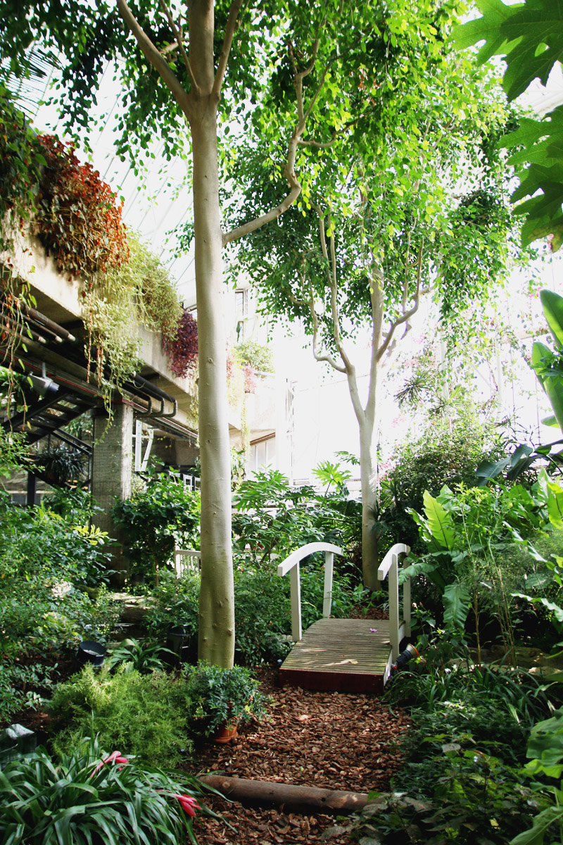
<svg viewBox="0 0 563 845"><path fill-rule="evenodd" d="M381 694L389 654L388 619L319 619L285 658L279 680L306 690Z"/></svg>

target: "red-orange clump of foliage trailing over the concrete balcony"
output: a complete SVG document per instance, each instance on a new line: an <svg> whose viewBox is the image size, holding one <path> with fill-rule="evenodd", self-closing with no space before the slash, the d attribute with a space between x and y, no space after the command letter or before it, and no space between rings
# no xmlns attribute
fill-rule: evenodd
<svg viewBox="0 0 563 845"><path fill-rule="evenodd" d="M38 196L36 234L57 267L88 279L129 257L122 205L90 164L80 164L72 144L40 135L46 168Z"/></svg>

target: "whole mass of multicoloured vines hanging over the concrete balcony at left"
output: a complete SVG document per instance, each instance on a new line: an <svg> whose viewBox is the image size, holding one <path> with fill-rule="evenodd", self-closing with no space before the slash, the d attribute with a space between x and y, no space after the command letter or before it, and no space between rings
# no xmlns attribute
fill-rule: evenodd
<svg viewBox="0 0 563 845"><path fill-rule="evenodd" d="M116 194L90 164L78 161L72 144L35 134L2 85L0 213L0 337L9 367L14 368L14 353L26 336L25 308L33 304L13 259L14 237L21 245L27 231L59 272L82 283L87 378L94 370L108 409L112 391L138 369L139 324L160 331L166 350L179 344L171 358L176 373L190 333L195 332L197 352L197 324L192 321L195 329L188 324L165 266L126 232ZM184 366L194 361L194 355L184 357Z"/></svg>

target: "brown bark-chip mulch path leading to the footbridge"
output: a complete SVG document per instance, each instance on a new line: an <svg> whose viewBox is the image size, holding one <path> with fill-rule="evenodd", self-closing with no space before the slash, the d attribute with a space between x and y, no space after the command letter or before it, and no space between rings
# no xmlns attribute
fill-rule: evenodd
<svg viewBox="0 0 563 845"><path fill-rule="evenodd" d="M389 788L409 727L402 711L389 711L373 695L279 688L274 669L256 675L272 696L269 720L241 728L228 745L205 745L201 773L358 793ZM208 806L223 820L200 816L195 827L200 845L349 842L345 823L333 815L248 808L216 798Z"/></svg>

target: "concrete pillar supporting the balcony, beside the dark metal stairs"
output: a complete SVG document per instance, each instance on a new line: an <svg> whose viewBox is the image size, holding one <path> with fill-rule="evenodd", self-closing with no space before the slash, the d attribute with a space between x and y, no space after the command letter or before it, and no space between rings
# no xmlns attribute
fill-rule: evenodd
<svg viewBox="0 0 563 845"><path fill-rule="evenodd" d="M119 532L111 520L111 508L119 499L131 496L133 478L133 406L126 401L112 404L113 417L108 424L105 408L96 408L94 416L94 447L92 455L92 496L103 508L94 516L95 525L108 532L116 543L111 551L112 569L118 570L116 581L122 583L127 575L127 560L123 558Z"/></svg>

